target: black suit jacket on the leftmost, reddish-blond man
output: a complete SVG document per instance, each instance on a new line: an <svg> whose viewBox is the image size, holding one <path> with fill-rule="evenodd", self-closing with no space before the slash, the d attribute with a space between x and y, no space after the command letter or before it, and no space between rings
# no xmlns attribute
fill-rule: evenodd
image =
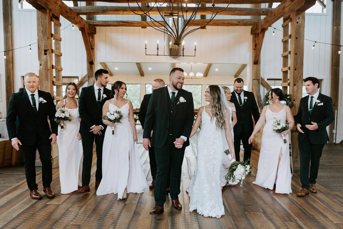
<svg viewBox="0 0 343 229"><path fill-rule="evenodd" d="M26 90L13 93L7 108L6 125L9 138L18 138L23 145L32 146L36 139L49 141L51 132L57 135L58 123L54 121L56 108L50 93L38 90L38 97L45 103L38 103L38 112L34 112ZM18 126L15 128L16 117ZM48 123L50 119L50 126Z"/></svg>

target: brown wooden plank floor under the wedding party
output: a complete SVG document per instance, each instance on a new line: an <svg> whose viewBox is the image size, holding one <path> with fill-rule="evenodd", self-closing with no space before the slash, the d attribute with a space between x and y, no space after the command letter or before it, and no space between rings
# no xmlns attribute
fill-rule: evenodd
<svg viewBox="0 0 343 229"><path fill-rule="evenodd" d="M138 133L142 136L142 131ZM304 198L295 193L300 188L299 172L292 177L290 195L275 194L253 185L254 176L248 176L243 188L224 187L225 215L220 219L205 218L189 212L189 196L185 192L197 166L197 135L187 147L182 165L181 211L171 206L167 197L164 214L149 215L154 207L153 191L129 194L126 200L117 195L97 196L94 192L95 157L93 158L91 192L60 194L59 171L53 170L53 199L43 195L35 201L29 197L23 167L0 168L0 228L343 228L343 161L342 145L326 145L321 158L317 180L318 193ZM150 184L148 152L139 144L141 164ZM251 158L257 171L259 152ZM42 191L42 174L37 172ZM7 191L4 191L7 189ZM2 191L2 192L1 192Z"/></svg>

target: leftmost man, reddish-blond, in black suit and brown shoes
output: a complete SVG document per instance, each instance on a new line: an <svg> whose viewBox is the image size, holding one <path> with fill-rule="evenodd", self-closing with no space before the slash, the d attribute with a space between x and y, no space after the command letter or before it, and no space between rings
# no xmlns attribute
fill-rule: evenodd
<svg viewBox="0 0 343 229"><path fill-rule="evenodd" d="M38 90L38 76L29 72L24 76L25 90L13 93L7 108L6 125L12 146L23 149L25 176L32 199L41 199L36 184L36 150L42 162L43 191L54 197L52 181L51 145L55 144L58 123L54 121L56 108L50 93ZM15 121L18 116L18 127ZM50 120L51 130L48 123Z"/></svg>

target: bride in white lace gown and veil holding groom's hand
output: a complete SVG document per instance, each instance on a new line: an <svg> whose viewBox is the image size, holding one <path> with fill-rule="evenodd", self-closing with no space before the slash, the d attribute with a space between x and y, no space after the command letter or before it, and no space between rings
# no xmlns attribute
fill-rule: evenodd
<svg viewBox="0 0 343 229"><path fill-rule="evenodd" d="M205 217L220 218L225 214L221 184L222 161L227 157L224 151L229 148L230 158L235 159L228 125L231 117L223 88L210 85L204 96L210 104L199 108L190 134L192 137L201 124L197 145L198 166L187 190L189 211L197 209Z"/></svg>

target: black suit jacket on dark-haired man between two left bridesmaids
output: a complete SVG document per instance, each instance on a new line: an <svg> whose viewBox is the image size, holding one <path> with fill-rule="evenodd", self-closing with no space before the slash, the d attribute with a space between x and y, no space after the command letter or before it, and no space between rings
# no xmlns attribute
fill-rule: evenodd
<svg viewBox="0 0 343 229"><path fill-rule="evenodd" d="M80 124L80 133L88 133L91 130L93 125L102 125L104 130L106 130L106 125L102 122L103 116L103 105L106 100L113 98L111 90L104 87L103 95L106 95L106 98L102 98L100 102L100 107L96 102L95 92L94 92L94 84L82 88L80 99L79 99L79 113L81 117L81 124Z"/></svg>

